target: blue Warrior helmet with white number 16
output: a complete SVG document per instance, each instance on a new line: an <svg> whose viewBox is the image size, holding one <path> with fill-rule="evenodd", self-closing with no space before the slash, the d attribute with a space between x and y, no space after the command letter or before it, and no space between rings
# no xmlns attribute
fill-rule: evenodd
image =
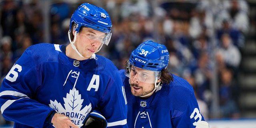
<svg viewBox="0 0 256 128"><path fill-rule="evenodd" d="M78 32L81 26L86 26L100 32L109 34L112 23L106 10L98 6L83 3L73 13L70 19L70 30L72 23L75 23L75 30Z"/></svg>

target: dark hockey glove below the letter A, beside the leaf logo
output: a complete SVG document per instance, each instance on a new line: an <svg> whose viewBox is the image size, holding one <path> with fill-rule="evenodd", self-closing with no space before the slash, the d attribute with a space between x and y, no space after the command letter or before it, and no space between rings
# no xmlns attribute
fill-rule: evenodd
<svg viewBox="0 0 256 128"><path fill-rule="evenodd" d="M91 112L83 121L81 128L107 128L107 120L97 112Z"/></svg>

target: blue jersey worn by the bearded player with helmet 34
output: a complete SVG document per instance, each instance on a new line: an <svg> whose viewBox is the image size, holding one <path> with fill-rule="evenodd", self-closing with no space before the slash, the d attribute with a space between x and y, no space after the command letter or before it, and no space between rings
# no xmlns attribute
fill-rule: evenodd
<svg viewBox="0 0 256 128"><path fill-rule="evenodd" d="M127 99L129 128L195 128L204 120L194 90L183 78L173 75L173 82L159 86L148 99L141 99L132 95L124 70L119 73Z"/></svg>

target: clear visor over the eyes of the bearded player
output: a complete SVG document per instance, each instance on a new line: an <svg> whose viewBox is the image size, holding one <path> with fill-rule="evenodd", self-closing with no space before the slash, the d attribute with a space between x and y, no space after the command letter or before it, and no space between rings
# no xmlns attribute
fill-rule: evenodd
<svg viewBox="0 0 256 128"><path fill-rule="evenodd" d="M126 72L126 76L131 80L137 80L144 83L155 83L156 80L160 79L161 71L150 71L131 66L129 71Z"/></svg>

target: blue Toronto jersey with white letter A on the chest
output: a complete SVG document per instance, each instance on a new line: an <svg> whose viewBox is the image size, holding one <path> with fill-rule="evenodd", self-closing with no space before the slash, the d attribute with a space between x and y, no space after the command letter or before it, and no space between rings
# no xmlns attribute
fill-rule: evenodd
<svg viewBox="0 0 256 128"><path fill-rule="evenodd" d="M55 110L77 126L99 108L108 128L127 128L122 81L114 64L93 54L77 61L57 44L30 46L0 88L1 112L16 128L54 128L44 123Z"/></svg>

